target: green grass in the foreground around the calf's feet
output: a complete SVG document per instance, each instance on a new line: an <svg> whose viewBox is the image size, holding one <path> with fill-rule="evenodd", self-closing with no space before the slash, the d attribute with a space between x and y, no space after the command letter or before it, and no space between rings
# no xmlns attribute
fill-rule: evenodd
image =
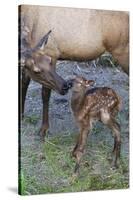
<svg viewBox="0 0 133 200"><path fill-rule="evenodd" d="M98 129L94 128L98 134ZM39 154L30 154L29 175L26 167L20 176L21 194L43 194L60 192L80 192L92 190L128 188L128 159L121 156L120 167L117 170L110 168L109 154L112 145L109 141L90 137L86 154L82 159L80 174L73 179L75 160L71 157L75 144L75 135L59 135L48 137ZM25 169L24 169L25 168Z"/></svg>

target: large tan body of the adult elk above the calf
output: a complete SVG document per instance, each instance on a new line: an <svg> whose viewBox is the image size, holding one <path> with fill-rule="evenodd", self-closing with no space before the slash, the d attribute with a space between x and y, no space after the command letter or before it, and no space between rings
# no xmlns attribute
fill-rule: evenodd
<svg viewBox="0 0 133 200"><path fill-rule="evenodd" d="M128 71L128 12L21 6L29 43L52 29L45 53L54 60L89 60L109 51Z"/></svg>

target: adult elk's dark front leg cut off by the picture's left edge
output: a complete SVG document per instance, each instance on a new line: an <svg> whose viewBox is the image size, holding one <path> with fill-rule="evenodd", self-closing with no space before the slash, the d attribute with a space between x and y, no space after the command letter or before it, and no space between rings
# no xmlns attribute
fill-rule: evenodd
<svg viewBox="0 0 133 200"><path fill-rule="evenodd" d="M30 83L30 77L26 74L25 70L22 70L22 79L20 83L20 112L22 117L24 116L24 105L26 99L27 89Z"/></svg>

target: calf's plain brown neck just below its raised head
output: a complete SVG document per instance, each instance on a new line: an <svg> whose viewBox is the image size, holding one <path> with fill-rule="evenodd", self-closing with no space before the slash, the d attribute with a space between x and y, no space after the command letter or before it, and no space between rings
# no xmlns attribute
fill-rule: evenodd
<svg viewBox="0 0 133 200"><path fill-rule="evenodd" d="M71 106L73 111L80 110L84 105L85 90L72 91Z"/></svg>

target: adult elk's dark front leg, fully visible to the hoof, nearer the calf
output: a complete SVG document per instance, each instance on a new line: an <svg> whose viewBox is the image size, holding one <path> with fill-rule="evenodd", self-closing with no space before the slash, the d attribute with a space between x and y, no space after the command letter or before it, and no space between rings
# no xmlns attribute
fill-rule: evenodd
<svg viewBox="0 0 133 200"><path fill-rule="evenodd" d="M40 129L40 135L42 139L45 138L46 131L49 128L49 99L50 99L51 89L42 86L42 102L43 102L43 113L42 113L42 126Z"/></svg>

